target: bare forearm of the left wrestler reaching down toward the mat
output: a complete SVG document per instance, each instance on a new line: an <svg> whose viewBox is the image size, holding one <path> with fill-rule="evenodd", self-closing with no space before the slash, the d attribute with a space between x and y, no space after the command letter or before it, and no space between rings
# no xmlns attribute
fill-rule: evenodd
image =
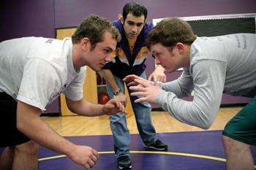
<svg viewBox="0 0 256 170"><path fill-rule="evenodd" d="M18 129L23 132L23 134L26 134L26 136L29 136L34 142L50 150L60 152L64 155L71 155L70 151L73 150L75 145L59 136L59 134L56 134L49 125L41 120L39 117L40 114L41 111L38 108L18 101Z"/></svg>

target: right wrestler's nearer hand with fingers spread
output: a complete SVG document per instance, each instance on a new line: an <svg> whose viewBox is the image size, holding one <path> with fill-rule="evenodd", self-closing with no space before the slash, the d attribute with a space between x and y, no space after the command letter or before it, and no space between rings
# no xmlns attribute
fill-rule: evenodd
<svg viewBox="0 0 256 170"><path fill-rule="evenodd" d="M154 85L152 85L150 81L145 80L141 77L136 77L134 79L134 82L138 83L138 85L129 87L130 90L135 90L135 92L132 92L130 95L142 96L135 100L135 103L140 103L143 101L148 101L151 103L156 102L156 98L162 90L162 88L160 88L157 83L154 83Z"/></svg>

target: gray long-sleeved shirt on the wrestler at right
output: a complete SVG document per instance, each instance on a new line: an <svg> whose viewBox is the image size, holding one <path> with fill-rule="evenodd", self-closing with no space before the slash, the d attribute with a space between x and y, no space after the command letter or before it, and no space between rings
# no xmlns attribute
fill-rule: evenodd
<svg viewBox="0 0 256 170"><path fill-rule="evenodd" d="M209 128L219 111L222 93L256 95L256 34L197 37L190 66L178 80L160 84L157 104L183 123ZM193 101L181 98L194 90Z"/></svg>

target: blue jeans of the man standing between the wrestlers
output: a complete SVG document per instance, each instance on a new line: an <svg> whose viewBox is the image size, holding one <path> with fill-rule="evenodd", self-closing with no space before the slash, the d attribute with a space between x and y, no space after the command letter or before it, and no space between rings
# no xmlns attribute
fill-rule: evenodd
<svg viewBox="0 0 256 170"><path fill-rule="evenodd" d="M145 72L140 77L146 78ZM114 76L116 84L124 93L124 82L121 78ZM107 90L110 98L113 98L113 90L107 84ZM128 89L129 94L131 91ZM144 144L150 145L157 141L157 134L151 120L151 105L148 102L135 103L137 96L130 96L132 108L135 112L135 120L137 123L140 137ZM127 118L123 112L110 116L110 128L114 137L114 150L116 156L129 155L129 144L131 137L127 128Z"/></svg>

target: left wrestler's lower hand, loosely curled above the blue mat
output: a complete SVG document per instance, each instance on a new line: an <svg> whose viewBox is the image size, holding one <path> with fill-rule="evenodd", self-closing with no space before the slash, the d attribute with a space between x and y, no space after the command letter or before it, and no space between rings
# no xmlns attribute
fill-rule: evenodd
<svg viewBox="0 0 256 170"><path fill-rule="evenodd" d="M75 145L70 158L75 163L80 164L86 170L91 169L99 159L99 154L92 147Z"/></svg>

